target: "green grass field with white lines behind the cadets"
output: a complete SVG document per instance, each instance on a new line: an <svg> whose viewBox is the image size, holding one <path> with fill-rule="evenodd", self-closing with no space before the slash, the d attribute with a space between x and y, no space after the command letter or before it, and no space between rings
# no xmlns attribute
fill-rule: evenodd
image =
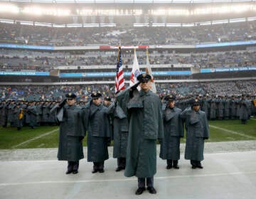
<svg viewBox="0 0 256 199"><path fill-rule="evenodd" d="M240 135L210 127L210 139L207 141L256 140L255 118L250 119L247 124L241 124L240 120L216 120L209 121L209 125L228 129L229 131L235 131ZM50 131L53 132L47 134ZM38 136L41 136L41 138L35 139ZM25 141L27 142L24 143ZM185 138L181 139L181 142L184 143ZM86 138L83 141L83 146L86 146ZM21 131L17 131L16 128L12 127L0 127L0 149L34 149L56 147L58 147L58 127L37 127L36 129L23 127Z"/></svg>

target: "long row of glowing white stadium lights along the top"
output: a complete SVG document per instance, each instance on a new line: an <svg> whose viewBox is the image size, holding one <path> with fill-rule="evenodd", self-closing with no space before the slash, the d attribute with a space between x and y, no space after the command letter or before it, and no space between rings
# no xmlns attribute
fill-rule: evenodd
<svg viewBox="0 0 256 199"><path fill-rule="evenodd" d="M153 1L153 0L152 0ZM184 0L185 1L185 0ZM57 1L56 1L57 2ZM107 2L107 1L106 1ZM135 7L134 7L135 8ZM71 11L65 8L52 8L52 5L43 6L26 6L18 7L14 4L0 4L0 12L9 12L13 14L33 14L33 15L52 15L52 16L73 16L75 14L81 16L137 16L142 14L151 14L153 16L193 16L193 15L206 15L206 14L228 14L228 13L242 13L247 11L256 11L255 4L208 4L208 5L196 5L194 9L188 7L176 7L173 9L167 8L155 8L143 11L142 9L92 9L90 7L77 7ZM145 12L145 13L143 13Z"/></svg>

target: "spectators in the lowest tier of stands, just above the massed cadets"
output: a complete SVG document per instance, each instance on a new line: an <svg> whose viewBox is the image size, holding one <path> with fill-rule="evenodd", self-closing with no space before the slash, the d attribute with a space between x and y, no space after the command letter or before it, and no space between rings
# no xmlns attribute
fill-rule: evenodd
<svg viewBox="0 0 256 199"><path fill-rule="evenodd" d="M156 90L159 95L174 93L180 99L193 95L216 97L246 94L255 96L256 80L156 83ZM4 85L0 87L0 99L43 99L51 101L53 99L60 100L61 96L68 92L75 92L78 99L87 99L93 91L114 98L114 85Z"/></svg>

